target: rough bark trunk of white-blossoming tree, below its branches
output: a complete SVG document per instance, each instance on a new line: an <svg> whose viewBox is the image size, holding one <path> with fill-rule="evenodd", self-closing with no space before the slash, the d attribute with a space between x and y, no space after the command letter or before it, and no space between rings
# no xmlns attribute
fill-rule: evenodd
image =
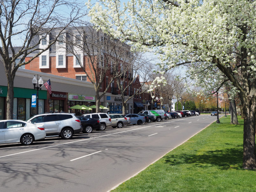
<svg viewBox="0 0 256 192"><path fill-rule="evenodd" d="M256 102L247 102L243 106L244 111L244 153L243 168L256 168L256 151L255 151L255 115Z"/></svg>

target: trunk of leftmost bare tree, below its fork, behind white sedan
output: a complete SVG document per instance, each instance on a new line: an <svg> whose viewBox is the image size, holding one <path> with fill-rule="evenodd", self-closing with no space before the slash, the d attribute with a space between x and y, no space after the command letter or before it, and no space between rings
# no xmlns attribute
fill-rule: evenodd
<svg viewBox="0 0 256 192"><path fill-rule="evenodd" d="M7 77L7 80L8 80L8 85L7 85L6 103L7 103L8 110L6 110L6 119L13 119L13 97L14 97L13 81L14 81L14 77Z"/></svg>

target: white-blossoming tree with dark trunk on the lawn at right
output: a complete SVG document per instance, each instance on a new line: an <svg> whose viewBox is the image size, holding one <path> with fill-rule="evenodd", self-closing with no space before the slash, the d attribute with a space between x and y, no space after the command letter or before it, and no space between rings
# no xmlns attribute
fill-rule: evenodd
<svg viewBox="0 0 256 192"><path fill-rule="evenodd" d="M204 78L211 78L212 69L223 73L239 92L245 113L243 168L256 168L255 1L102 0L87 5L99 29L130 40L135 49L159 53L163 70L189 64Z"/></svg>

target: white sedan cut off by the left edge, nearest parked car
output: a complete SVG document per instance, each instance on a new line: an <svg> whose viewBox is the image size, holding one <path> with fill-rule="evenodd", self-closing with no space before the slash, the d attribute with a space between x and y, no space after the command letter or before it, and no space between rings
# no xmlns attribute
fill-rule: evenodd
<svg viewBox="0 0 256 192"><path fill-rule="evenodd" d="M31 145L44 139L45 128L22 120L0 120L0 143Z"/></svg>

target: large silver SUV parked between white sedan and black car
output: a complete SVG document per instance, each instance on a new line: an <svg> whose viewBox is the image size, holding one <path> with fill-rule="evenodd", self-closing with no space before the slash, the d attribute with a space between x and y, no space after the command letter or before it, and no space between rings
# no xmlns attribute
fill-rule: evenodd
<svg viewBox="0 0 256 192"><path fill-rule="evenodd" d="M63 139L71 139L82 131L81 122L74 113L44 113L31 117L27 122L43 125L46 137L59 135Z"/></svg>

